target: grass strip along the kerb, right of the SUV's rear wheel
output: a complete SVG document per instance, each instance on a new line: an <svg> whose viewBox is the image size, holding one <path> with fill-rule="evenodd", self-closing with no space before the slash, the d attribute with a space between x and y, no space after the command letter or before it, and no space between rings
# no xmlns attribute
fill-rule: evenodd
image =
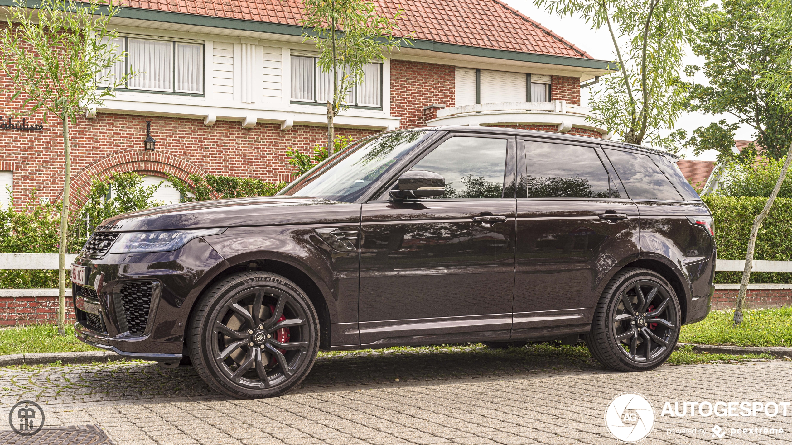
<svg viewBox="0 0 792 445"><path fill-rule="evenodd" d="M732 327L734 311L712 311L703 321L683 326L680 343L792 347L792 307L749 309L742 326Z"/></svg>

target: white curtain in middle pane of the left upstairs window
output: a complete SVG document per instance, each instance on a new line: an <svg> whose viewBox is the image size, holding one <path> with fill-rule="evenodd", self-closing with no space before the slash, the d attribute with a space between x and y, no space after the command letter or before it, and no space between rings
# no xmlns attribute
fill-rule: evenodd
<svg viewBox="0 0 792 445"><path fill-rule="evenodd" d="M173 91L173 42L128 39L131 89Z"/></svg>

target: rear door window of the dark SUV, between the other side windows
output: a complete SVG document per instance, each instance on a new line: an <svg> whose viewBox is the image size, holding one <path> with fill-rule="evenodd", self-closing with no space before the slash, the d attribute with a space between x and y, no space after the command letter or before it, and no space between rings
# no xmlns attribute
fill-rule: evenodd
<svg viewBox="0 0 792 445"><path fill-rule="evenodd" d="M591 147L524 141L526 172L520 198L619 198Z"/></svg>

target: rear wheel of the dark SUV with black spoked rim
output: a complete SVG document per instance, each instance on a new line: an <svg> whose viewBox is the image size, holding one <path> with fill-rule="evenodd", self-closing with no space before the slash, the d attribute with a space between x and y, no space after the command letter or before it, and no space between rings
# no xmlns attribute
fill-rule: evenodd
<svg viewBox="0 0 792 445"><path fill-rule="evenodd" d="M611 279L585 342L596 360L619 371L649 371L668 359L680 336L680 303L668 281L630 268Z"/></svg>

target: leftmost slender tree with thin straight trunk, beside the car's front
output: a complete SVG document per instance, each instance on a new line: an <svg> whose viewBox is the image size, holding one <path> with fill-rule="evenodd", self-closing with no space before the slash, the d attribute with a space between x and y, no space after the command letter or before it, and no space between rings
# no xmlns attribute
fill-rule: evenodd
<svg viewBox="0 0 792 445"><path fill-rule="evenodd" d="M58 332L66 334L67 230L71 180L69 124L78 114L101 105L116 87L130 77L114 76L112 68L125 54L108 28L118 7L102 0L70 2L41 0L37 9L27 9L25 0L15 0L8 23L0 33L0 73L9 80L9 102L22 100L17 114L49 115L59 119L63 134L63 201L60 202L60 245L58 271Z"/></svg>

